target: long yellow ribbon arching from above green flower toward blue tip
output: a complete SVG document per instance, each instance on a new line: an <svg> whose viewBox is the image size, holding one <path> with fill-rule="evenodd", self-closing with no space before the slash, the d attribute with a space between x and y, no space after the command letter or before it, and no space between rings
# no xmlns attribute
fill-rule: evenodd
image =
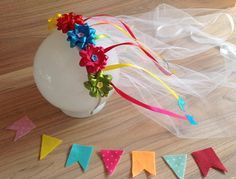
<svg viewBox="0 0 236 179"><path fill-rule="evenodd" d="M143 70L144 72L146 72L147 74L149 74L150 76L152 76L153 78L155 78L156 80L158 80L177 100L179 100L179 96L176 94L176 92L174 90L172 90L164 81L162 81L158 76L154 75L152 72L148 71L147 69L137 66L137 65L133 65L133 64L129 64L129 63L125 63L125 64L114 64L114 65L109 65L106 66L105 69L103 69L103 71L109 71L109 70L115 70L118 68L125 68L125 67L132 67L132 68L137 68L140 70Z"/></svg>

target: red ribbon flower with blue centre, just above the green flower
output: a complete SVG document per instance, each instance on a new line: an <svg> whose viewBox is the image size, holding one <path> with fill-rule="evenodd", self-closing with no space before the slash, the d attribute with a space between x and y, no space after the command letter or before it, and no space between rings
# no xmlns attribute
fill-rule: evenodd
<svg viewBox="0 0 236 179"><path fill-rule="evenodd" d="M80 66L86 66L88 73L96 73L105 68L108 57L102 47L89 44L85 50L80 50Z"/></svg>

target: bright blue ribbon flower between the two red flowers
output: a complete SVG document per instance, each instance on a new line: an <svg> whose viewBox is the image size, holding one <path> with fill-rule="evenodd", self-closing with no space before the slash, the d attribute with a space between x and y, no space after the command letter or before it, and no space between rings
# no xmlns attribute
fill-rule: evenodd
<svg viewBox="0 0 236 179"><path fill-rule="evenodd" d="M96 30L89 27L88 24L75 24L75 29L67 32L67 41L70 41L70 47L75 46L85 49L88 44L95 45Z"/></svg>

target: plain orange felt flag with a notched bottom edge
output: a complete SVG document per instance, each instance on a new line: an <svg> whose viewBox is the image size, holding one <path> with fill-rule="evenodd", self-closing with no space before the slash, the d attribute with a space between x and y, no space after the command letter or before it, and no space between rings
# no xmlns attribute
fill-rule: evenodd
<svg viewBox="0 0 236 179"><path fill-rule="evenodd" d="M151 175L156 175L155 152L133 151L132 152L132 176L137 176L146 170Z"/></svg>

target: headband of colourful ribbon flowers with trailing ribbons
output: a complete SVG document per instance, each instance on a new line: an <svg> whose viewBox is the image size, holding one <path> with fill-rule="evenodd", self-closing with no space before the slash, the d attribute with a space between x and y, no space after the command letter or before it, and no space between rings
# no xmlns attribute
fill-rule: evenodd
<svg viewBox="0 0 236 179"><path fill-rule="evenodd" d="M140 51L143 52L148 57L148 59L152 60L152 62L157 66L157 68L163 74L168 76L172 75L172 73L169 70L162 67L158 62L158 60L156 59L156 57L158 57L159 59L162 58L160 58L158 54L153 52L145 44L140 42L136 38L131 28L126 23L124 23L119 19L118 19L119 23L114 23L108 20L102 20L96 24L93 24L93 26L100 24L112 25L117 30L121 31L124 35L132 39L132 41L134 42L123 42L119 44L114 44L106 48L103 48L101 46L96 46L96 40L107 37L107 35L105 34L97 35L96 30L92 28L90 25L88 25L87 21L91 18L95 18L98 16L102 17L110 15L101 14L89 18L84 18L81 15L76 15L75 13L71 12L67 14L56 14L54 17L48 19L49 29L57 28L57 30L62 31L63 33L67 33L67 41L69 41L70 47L78 48L79 54L81 56L79 65L81 67L86 67L88 73L88 81L84 82L84 86L86 89L89 90L90 96L97 98L107 97L109 92L112 89L114 89L121 97L125 98L131 103L134 103L138 106L141 106L153 112L158 112L170 117L179 118L184 121L187 120L190 122L190 124L196 125L197 122L194 120L193 116L188 115L185 112L184 99L179 95L177 95L173 89L171 89L164 81L161 80L161 78L159 78L155 74L135 64L114 64L107 66L108 56L106 55L106 53L108 51L118 46L129 45L139 48ZM142 70L148 75L158 80L176 98L180 110L184 112L185 115L179 115L166 109L150 106L133 98L132 96L129 96L128 94L123 92L121 89L119 89L112 83L112 76L110 74L103 73L104 71L114 70L118 68L126 68L126 67Z"/></svg>

